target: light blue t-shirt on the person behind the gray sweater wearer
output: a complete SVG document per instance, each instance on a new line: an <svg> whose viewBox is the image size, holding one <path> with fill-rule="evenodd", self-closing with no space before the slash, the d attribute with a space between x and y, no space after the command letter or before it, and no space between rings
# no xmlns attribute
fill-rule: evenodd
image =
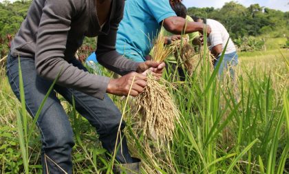
<svg viewBox="0 0 289 174"><path fill-rule="evenodd" d="M169 0L127 0L123 19L118 27L116 50L137 62L145 61L152 41L160 32L162 21L176 14Z"/></svg>

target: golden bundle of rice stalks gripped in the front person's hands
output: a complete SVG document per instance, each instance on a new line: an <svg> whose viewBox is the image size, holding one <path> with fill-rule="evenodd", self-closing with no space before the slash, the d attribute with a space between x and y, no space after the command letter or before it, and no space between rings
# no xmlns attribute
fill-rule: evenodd
<svg viewBox="0 0 289 174"><path fill-rule="evenodd" d="M171 48L164 46L164 36L160 34L153 48L153 61L162 62L171 54ZM136 97L136 105L142 117L140 125L144 135L155 140L171 140L175 122L179 122L180 111L175 105L167 87L166 80L157 80L148 75L147 86Z"/></svg>

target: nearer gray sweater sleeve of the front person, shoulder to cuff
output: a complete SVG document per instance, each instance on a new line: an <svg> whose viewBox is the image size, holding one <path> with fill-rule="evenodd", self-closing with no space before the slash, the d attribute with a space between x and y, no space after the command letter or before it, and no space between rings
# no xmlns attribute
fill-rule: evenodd
<svg viewBox="0 0 289 174"><path fill-rule="evenodd" d="M64 59L70 24L77 10L74 0L45 2L36 38L36 71L48 80L54 80L61 72L58 85L103 99L109 78L89 74Z"/></svg>

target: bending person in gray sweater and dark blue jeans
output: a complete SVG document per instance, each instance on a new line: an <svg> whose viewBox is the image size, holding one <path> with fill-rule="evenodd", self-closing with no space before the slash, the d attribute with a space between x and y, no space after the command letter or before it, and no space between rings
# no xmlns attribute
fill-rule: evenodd
<svg viewBox="0 0 289 174"><path fill-rule="evenodd" d="M73 132L56 92L70 103L75 101L76 110L96 128L109 153L114 152L115 145L120 147L116 152L118 162L137 162L129 155L125 137L116 140L118 126L122 130L125 122L120 123L121 113L106 93L126 96L132 87L130 95L137 96L146 86L145 72L150 69L161 76L164 63L136 63L116 52L123 8L123 0L34 0L12 41L7 63L9 83L20 98L19 58L26 109L33 118L60 73L37 120L43 173L72 173ZM89 74L76 60L74 54L85 36L98 36L98 62L122 77Z"/></svg>

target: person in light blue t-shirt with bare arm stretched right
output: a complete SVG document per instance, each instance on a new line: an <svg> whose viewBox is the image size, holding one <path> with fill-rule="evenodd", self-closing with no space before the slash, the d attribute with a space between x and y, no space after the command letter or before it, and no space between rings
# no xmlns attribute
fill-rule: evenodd
<svg viewBox="0 0 289 174"><path fill-rule="evenodd" d="M116 39L117 52L133 61L146 61L153 47L153 39L158 36L162 26L173 34L182 34L185 25L186 33L203 32L204 29L207 34L211 33L208 25L177 17L171 8L176 3L181 3L181 0L125 1Z"/></svg>

